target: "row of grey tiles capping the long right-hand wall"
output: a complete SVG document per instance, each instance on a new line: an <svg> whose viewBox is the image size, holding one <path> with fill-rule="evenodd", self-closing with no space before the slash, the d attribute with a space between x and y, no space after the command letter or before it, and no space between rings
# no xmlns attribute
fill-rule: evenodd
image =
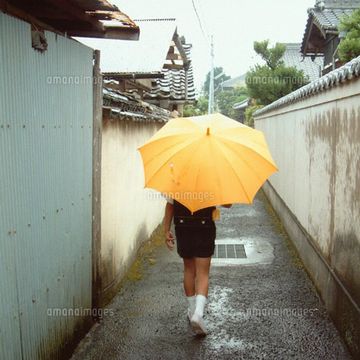
<svg viewBox="0 0 360 360"><path fill-rule="evenodd" d="M256 111L255 116L263 115L266 112L295 103L303 98L315 95L319 92L326 91L355 77L360 77L360 56L351 60L339 69L333 70L320 79L315 80L310 84L292 92L291 94L273 102L272 104Z"/></svg>

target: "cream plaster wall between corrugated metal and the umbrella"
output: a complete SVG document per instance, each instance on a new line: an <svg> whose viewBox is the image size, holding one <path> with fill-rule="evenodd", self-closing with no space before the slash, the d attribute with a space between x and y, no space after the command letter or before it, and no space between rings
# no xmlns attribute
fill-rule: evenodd
<svg viewBox="0 0 360 360"><path fill-rule="evenodd" d="M118 282L140 244L161 223L165 201L144 189L137 148L159 128L154 122L103 121L101 185L102 287Z"/></svg>

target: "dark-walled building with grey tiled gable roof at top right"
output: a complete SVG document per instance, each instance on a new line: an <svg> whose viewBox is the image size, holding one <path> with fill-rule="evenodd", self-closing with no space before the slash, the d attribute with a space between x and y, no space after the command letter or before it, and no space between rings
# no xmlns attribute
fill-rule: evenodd
<svg viewBox="0 0 360 360"><path fill-rule="evenodd" d="M338 30L340 20L359 7L360 0L316 0L315 6L308 9L301 52L312 59L323 56L323 74L342 65L337 56L342 36Z"/></svg>

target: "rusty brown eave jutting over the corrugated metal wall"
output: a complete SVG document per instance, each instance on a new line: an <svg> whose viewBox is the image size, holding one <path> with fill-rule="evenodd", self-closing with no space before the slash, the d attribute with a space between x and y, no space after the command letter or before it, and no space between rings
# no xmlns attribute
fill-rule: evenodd
<svg viewBox="0 0 360 360"><path fill-rule="evenodd" d="M2 0L0 10L67 36L139 38L134 21L106 0Z"/></svg>

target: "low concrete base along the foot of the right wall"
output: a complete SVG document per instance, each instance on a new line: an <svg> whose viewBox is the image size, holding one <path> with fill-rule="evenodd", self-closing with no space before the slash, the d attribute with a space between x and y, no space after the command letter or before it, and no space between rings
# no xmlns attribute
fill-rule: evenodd
<svg viewBox="0 0 360 360"><path fill-rule="evenodd" d="M263 190L295 245L304 266L325 306L349 347L354 359L360 359L360 309L344 283L316 247L316 242L299 223L269 182Z"/></svg>

